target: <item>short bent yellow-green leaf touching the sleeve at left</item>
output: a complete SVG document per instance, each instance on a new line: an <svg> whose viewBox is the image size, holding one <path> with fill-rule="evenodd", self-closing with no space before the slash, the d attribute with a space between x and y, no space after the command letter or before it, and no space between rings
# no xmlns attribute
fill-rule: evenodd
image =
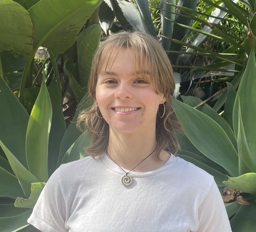
<svg viewBox="0 0 256 232"><path fill-rule="evenodd" d="M46 183L32 183L31 184L31 195L29 199L18 197L14 202L15 207L18 208L34 208L34 205L39 198Z"/></svg>

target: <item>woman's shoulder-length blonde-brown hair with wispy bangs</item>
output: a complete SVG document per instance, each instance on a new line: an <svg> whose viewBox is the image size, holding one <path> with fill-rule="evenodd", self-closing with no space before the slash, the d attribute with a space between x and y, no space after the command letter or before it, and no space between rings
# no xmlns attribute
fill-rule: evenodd
<svg viewBox="0 0 256 232"><path fill-rule="evenodd" d="M172 66L161 44L155 37L144 32L120 32L111 35L101 43L94 55L88 81L88 94L94 99L94 103L91 109L81 112L78 117L78 127L81 129L85 125L91 136L91 145L85 148L86 152L95 157L104 153L108 148L109 125L102 117L99 117L101 114L96 107L97 77L101 67L106 65L106 61L113 60L118 51L124 48L134 52L136 70L143 71L145 62L149 64L153 87L157 94L163 94L166 98L164 117L160 117L163 114L163 109L160 109L163 106L160 105L156 120L156 153L159 156L161 150L167 150L176 154L180 147L175 132L180 129L180 124L171 108L175 88Z"/></svg>

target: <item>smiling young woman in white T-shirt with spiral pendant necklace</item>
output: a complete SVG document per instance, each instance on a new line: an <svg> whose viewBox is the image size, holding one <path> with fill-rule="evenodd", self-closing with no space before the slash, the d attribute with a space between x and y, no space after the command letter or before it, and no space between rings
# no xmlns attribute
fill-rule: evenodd
<svg viewBox="0 0 256 232"><path fill-rule="evenodd" d="M110 36L97 50L80 114L90 155L50 177L28 222L53 231L229 232L214 179L175 156L174 79L161 45L142 32Z"/></svg>

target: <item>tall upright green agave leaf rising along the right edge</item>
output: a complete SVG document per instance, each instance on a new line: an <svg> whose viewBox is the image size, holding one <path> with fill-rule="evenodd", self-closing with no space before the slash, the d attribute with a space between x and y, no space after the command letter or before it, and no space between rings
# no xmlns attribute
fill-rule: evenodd
<svg viewBox="0 0 256 232"><path fill-rule="evenodd" d="M241 119L244 125L245 136L251 154L256 152L256 63L254 50L251 51L246 69L237 91L233 110L233 124L235 135L238 136L239 126L239 102L241 107ZM256 163L256 156L253 156L253 163Z"/></svg>

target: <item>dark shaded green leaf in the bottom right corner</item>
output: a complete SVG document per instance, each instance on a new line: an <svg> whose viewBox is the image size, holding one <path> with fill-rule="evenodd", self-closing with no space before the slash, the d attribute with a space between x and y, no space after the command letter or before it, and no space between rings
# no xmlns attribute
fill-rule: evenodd
<svg viewBox="0 0 256 232"><path fill-rule="evenodd" d="M256 204L241 205L235 216L231 220L233 232L256 231Z"/></svg>

